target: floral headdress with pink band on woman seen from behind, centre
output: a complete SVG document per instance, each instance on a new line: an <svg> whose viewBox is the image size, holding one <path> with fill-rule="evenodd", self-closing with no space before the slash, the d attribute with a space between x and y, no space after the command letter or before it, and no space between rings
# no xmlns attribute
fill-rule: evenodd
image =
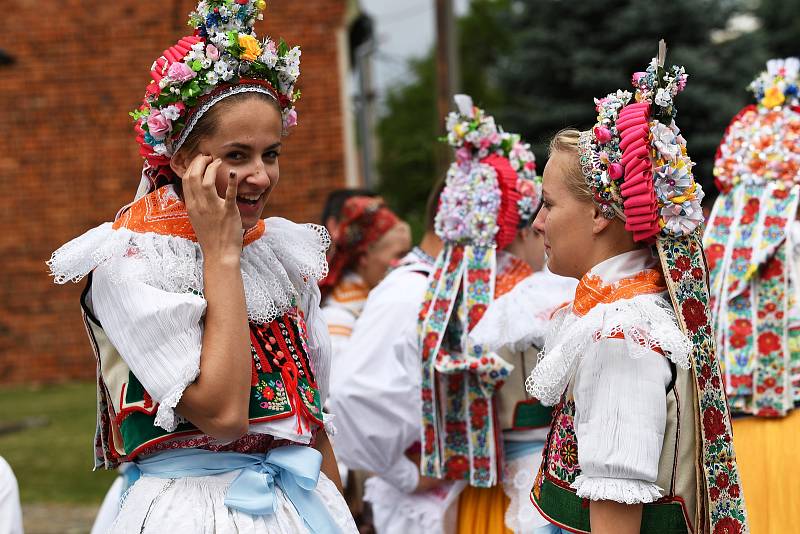
<svg viewBox="0 0 800 534"><path fill-rule="evenodd" d="M451 193L461 200L451 206L454 209L452 217L445 217L443 214L442 220L448 219L455 223L455 218L457 218L461 222L455 225L457 230L451 228L456 231L446 231L444 228L442 231L445 235L450 235L451 240L454 241L462 240L466 235L481 236L478 240L483 241L487 239L488 234L494 236L498 232L497 222L492 223L485 216L479 215L472 221L472 224L464 225L464 221L468 220L470 214L464 212L465 204L462 201L472 195L482 198L486 198L486 195L496 196L495 200L497 200L501 212L501 220L508 211L506 206L510 205L508 202L510 197L514 197L513 205L516 207L514 230L529 226L533 222L542 197L542 180L536 174L536 157L531 151L530 145L524 143L518 134L503 131L502 127L495 123L494 117L473 105L472 98L469 96L456 95L454 100L458 111L448 114L446 120L447 137L445 140L456 149L456 162L448 172L448 183L451 179L454 182L453 185L458 182L458 186L453 187ZM493 184L487 183L486 176L481 177L480 169L470 165L490 156L505 158L508 161L511 169L516 173L514 184L510 184L508 180L500 180L498 187L495 188ZM452 176L458 172L462 173L461 177ZM497 176L494 178L497 180ZM488 181L491 182L491 180ZM501 202L501 200L505 200L505 202ZM487 201L480 208L491 209L494 204L495 202ZM501 204L502 206L500 206Z"/></svg>

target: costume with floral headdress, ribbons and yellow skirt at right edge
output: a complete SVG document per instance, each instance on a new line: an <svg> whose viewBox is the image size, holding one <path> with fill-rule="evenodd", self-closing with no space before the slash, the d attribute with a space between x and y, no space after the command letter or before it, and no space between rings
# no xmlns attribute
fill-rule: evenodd
<svg viewBox="0 0 800 534"><path fill-rule="evenodd" d="M757 104L728 127L703 245L734 443L754 532L783 532L800 500L798 58L773 59Z"/></svg>

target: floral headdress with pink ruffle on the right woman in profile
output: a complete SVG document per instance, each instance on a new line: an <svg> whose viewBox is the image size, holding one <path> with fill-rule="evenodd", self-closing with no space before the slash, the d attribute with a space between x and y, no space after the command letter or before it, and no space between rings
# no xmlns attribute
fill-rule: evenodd
<svg viewBox="0 0 800 534"><path fill-rule="evenodd" d="M683 67L663 67L665 47L633 75L635 97L595 99L597 123L579 141L581 169L603 214L620 217L636 241L690 234L703 219L703 190L675 124L673 99L686 86Z"/></svg>

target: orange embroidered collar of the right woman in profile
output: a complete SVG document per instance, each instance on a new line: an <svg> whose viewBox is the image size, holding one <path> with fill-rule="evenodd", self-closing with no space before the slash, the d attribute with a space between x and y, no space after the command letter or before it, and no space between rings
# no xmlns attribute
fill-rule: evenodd
<svg viewBox="0 0 800 534"><path fill-rule="evenodd" d="M635 250L596 265L578 283L573 313L582 317L598 304L665 292L664 277L654 268L655 262L649 250Z"/></svg>

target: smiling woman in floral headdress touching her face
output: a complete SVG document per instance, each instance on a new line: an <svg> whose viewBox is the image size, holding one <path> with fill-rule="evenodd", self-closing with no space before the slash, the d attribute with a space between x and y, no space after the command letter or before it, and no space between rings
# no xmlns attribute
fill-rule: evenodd
<svg viewBox="0 0 800 534"><path fill-rule="evenodd" d="M132 114L136 200L49 261L57 283L89 276L96 466L140 474L114 533L355 532L322 412L329 238L260 218L300 59L256 39L263 7L199 2Z"/></svg>

